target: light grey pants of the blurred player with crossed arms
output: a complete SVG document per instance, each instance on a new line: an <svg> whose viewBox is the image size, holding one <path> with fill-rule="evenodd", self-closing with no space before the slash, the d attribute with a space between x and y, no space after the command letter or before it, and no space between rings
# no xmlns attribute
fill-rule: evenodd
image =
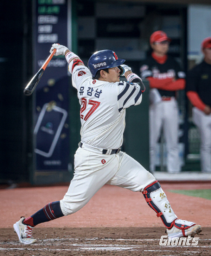
<svg viewBox="0 0 211 256"><path fill-rule="evenodd" d="M163 127L167 149L167 171L179 172L178 106L175 98L149 106L150 170L155 170L155 150Z"/></svg>

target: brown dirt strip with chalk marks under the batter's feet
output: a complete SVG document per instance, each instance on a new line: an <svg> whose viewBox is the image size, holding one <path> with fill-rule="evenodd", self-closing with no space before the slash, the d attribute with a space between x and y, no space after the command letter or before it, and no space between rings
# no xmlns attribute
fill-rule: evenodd
<svg viewBox="0 0 211 256"><path fill-rule="evenodd" d="M11 256L178 256L211 255L211 228L203 228L198 245L159 245L163 227L37 228L36 244L23 245L12 229L0 229L0 255Z"/></svg>

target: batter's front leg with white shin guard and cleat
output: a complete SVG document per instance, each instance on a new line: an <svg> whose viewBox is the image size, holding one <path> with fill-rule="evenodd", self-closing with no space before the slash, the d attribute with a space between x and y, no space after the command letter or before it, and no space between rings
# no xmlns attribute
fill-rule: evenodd
<svg viewBox="0 0 211 256"><path fill-rule="evenodd" d="M167 227L169 237L193 236L201 231L200 225L177 218L165 192L151 173L127 154L120 152L118 155L119 170L108 184L142 192L149 207Z"/></svg>

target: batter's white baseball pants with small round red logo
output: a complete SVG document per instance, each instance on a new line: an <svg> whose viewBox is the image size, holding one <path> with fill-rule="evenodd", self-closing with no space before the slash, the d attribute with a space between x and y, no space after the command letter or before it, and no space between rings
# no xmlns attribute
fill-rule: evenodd
<svg viewBox="0 0 211 256"><path fill-rule="evenodd" d="M104 184L140 192L154 181L155 177L126 153L103 155L78 148L75 174L60 206L66 216L80 210Z"/></svg>

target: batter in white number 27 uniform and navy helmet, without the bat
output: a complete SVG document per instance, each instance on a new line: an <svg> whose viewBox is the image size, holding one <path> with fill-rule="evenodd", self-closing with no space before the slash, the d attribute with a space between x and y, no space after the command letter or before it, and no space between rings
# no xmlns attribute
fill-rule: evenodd
<svg viewBox="0 0 211 256"><path fill-rule="evenodd" d="M139 105L145 90L141 79L115 52L95 52L85 67L81 59L63 45L50 52L65 55L81 105L81 142L75 154L75 174L60 201L50 202L32 216L21 217L13 227L23 244L32 244L33 228L39 223L67 216L81 209L104 185L142 192L147 204L167 227L169 237L195 235L200 225L178 219L166 194L140 163L121 151L126 108ZM127 82L120 82L120 75Z"/></svg>

